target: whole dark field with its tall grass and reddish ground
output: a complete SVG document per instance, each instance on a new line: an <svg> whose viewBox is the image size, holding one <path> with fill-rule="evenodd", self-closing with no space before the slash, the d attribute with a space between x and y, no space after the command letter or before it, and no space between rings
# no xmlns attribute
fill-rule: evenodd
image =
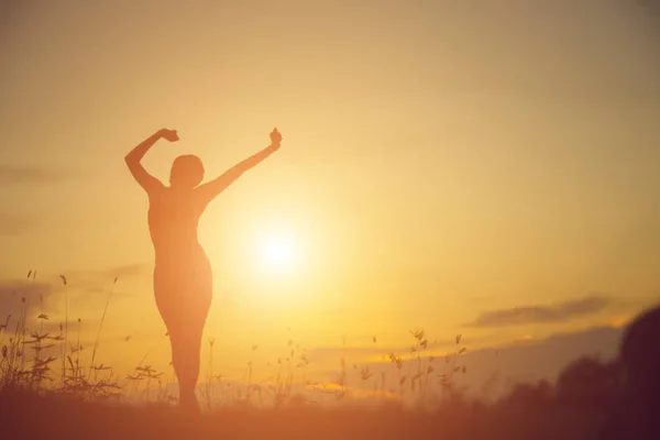
<svg viewBox="0 0 660 440"><path fill-rule="evenodd" d="M474 399L457 386L470 374L461 336L453 352L433 359L425 332L415 330L408 356L386 354L394 386L343 359L318 399L300 392L310 386L294 367L263 384L222 383L211 369L198 388L204 413L185 414L163 372L141 364L119 377L98 362L105 311L94 346L82 351L75 322L66 318L57 331L48 322L45 331L48 317L30 319L21 304L0 327L3 439L595 439L619 393L616 362L585 358L566 365L556 384L519 384L496 402ZM367 387L361 382L370 398L355 393Z"/></svg>

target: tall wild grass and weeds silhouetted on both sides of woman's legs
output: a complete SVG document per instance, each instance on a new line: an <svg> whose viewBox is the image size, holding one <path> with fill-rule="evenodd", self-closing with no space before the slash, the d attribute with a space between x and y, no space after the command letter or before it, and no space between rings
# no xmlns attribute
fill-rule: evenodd
<svg viewBox="0 0 660 440"><path fill-rule="evenodd" d="M30 283L34 283L36 272L30 271L28 277ZM80 318L76 320L74 344L73 334L69 334L69 283L65 275L59 275L59 278L64 287L64 321L59 323L57 334L44 332L44 324L50 321L50 317L44 312L43 297L40 298L41 314L36 318L38 331L32 333L29 331L25 297L21 297L21 318L15 326L12 324L11 315L0 326L2 350L0 387L26 387L40 393L67 394L85 399L110 397L123 399L139 396L147 402L157 400L167 404L174 402L175 394L172 391L175 383L174 372L167 380L165 372L145 364L148 352L123 380L119 380L112 366L98 362L101 333L118 278L112 280L108 289L88 364L80 343L80 334L86 321ZM312 383L308 380L308 366L312 362L308 359L307 351L292 338L283 348L283 354L273 362L273 374L268 375L267 372L260 371L262 374L265 373L266 378L255 380L257 365L254 363L253 355L258 345L254 344L243 377L228 381L215 371L216 340L210 339L206 382L199 385L198 392L206 409L218 405L264 405L267 402L275 406L283 406L292 403L316 403L327 398L328 402L345 400L355 397L353 394L356 392L367 391L373 392L372 395L376 398L398 395L402 400L406 398L435 402L446 395L448 389L452 389L457 374L466 372L465 366L460 363L460 356L465 348L460 346L461 336L457 336L455 350L448 353L443 365L438 367L438 361L429 353L432 344L426 338L425 331L411 330L410 334L414 344L409 353L391 352L382 356L385 362L395 366L394 384L388 381L385 363L381 363L380 366L373 363L363 365L353 363L352 367L349 367L345 353L339 360L339 374L334 381ZM376 344L376 337L372 338L372 343ZM344 350L348 348L346 337L342 337L342 345ZM26 355L26 349L31 349L32 356ZM54 353L54 350L58 350L58 353ZM57 360L61 363L58 377L54 375L55 371L52 369Z"/></svg>

